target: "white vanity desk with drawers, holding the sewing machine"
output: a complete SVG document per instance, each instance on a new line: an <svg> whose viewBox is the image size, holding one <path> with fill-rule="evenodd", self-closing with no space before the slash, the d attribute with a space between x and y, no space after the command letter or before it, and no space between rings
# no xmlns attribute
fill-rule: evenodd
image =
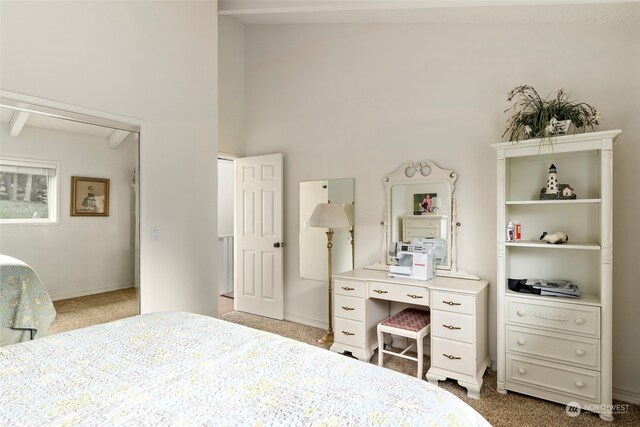
<svg viewBox="0 0 640 427"><path fill-rule="evenodd" d="M489 366L486 280L436 277L429 281L389 277L387 271L356 269L334 278L335 338L331 350L368 362L378 347L376 326L389 316L389 302L431 308L431 366L427 380L452 378L478 398Z"/></svg>

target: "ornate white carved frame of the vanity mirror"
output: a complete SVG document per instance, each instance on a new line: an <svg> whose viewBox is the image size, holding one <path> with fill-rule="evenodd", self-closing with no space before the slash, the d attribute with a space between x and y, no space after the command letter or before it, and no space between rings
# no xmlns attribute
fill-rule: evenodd
<svg viewBox="0 0 640 427"><path fill-rule="evenodd" d="M394 172L384 177L385 187L385 209L384 209L384 258L383 262L387 265L391 263L389 256L389 242L391 239L391 189L399 184L430 184L444 183L448 184L451 192L451 207L448 214L449 229L447 230L447 255L449 262L447 265L436 266L437 276L457 277L463 279L479 280L479 277L469 274L466 271L458 270L458 250L457 250L457 228L459 226L457 219L456 199L453 197L455 191L455 182L458 174L453 169L442 169L431 160L408 161L400 165ZM443 210L445 208L443 207Z"/></svg>

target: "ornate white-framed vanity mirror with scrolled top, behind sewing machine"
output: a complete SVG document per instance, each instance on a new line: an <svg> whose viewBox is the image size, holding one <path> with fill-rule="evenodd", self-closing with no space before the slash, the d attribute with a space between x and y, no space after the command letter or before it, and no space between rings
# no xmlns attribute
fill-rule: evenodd
<svg viewBox="0 0 640 427"><path fill-rule="evenodd" d="M434 248L437 275L476 278L457 267L457 179L429 160L406 162L385 176L387 264L395 262L395 242L421 242Z"/></svg>

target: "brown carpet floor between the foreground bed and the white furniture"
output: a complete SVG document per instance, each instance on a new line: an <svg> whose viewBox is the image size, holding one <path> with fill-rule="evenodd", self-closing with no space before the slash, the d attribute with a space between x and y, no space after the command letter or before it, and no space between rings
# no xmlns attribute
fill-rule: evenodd
<svg viewBox="0 0 640 427"><path fill-rule="evenodd" d="M324 331L311 326L282 320L273 320L252 314L232 311L220 316L221 319L263 331L273 332L288 338L308 344L327 348L317 342L324 335ZM378 353L371 358L373 363L378 361ZM384 366L394 371L415 376L415 362L398 357L385 357ZM428 369L429 359L425 361L425 371ZM613 423L602 421L595 414L582 412L575 418L565 412L565 405L524 396L518 393L499 394L496 391L496 373L490 370L484 376L484 384L480 391L480 399L469 399L466 390L458 386L457 382L447 380L440 382L440 386L460 399L464 400L494 426L640 426L640 407L628 405L616 414ZM614 402L626 405L623 402Z"/></svg>

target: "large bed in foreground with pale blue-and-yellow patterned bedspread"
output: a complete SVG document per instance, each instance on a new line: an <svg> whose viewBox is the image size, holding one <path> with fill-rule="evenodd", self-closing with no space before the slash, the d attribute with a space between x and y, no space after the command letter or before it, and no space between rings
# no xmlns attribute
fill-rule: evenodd
<svg viewBox="0 0 640 427"><path fill-rule="evenodd" d="M426 381L190 313L0 348L0 425L78 424L488 425Z"/></svg>

